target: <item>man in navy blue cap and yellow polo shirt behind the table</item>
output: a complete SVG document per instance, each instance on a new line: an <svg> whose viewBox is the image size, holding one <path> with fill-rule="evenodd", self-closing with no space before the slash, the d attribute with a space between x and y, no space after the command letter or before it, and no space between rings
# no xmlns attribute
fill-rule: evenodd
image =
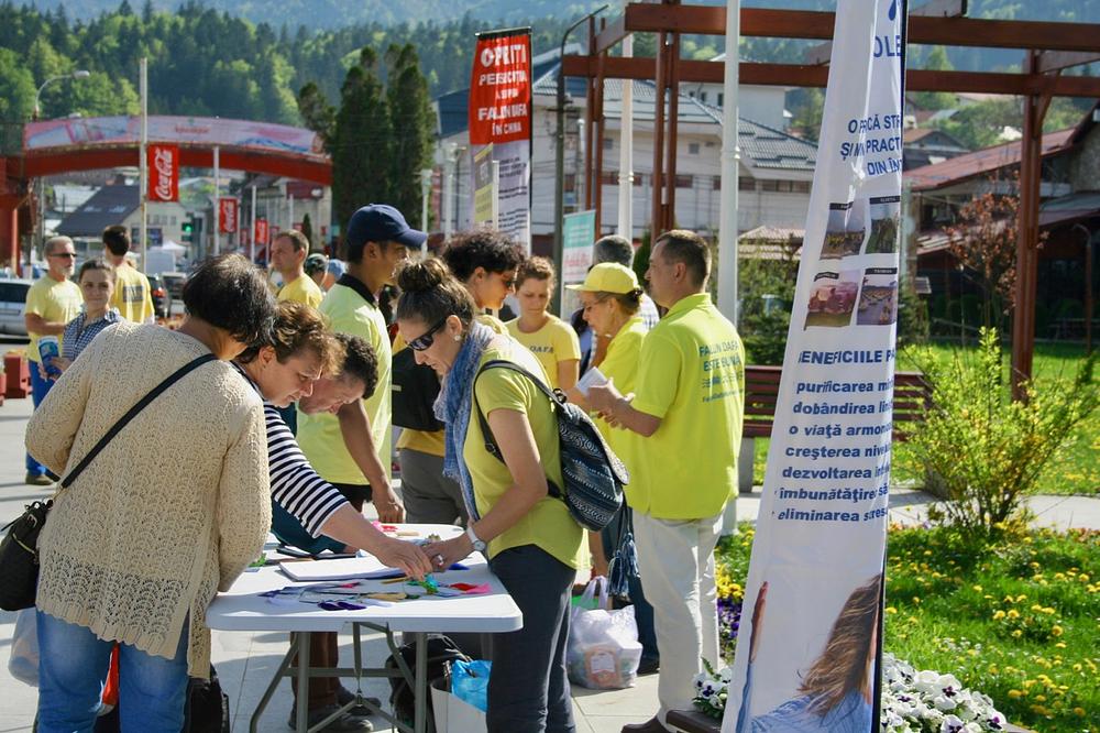
<svg viewBox="0 0 1100 733"><path fill-rule="evenodd" d="M394 284L394 271L428 238L385 204L352 215L344 241L348 272L321 302L332 330L359 336L378 357L378 384L366 400L337 415L298 412L298 445L322 479L362 508L373 501L383 522L400 522L405 510L389 485L392 351L378 292Z"/></svg>

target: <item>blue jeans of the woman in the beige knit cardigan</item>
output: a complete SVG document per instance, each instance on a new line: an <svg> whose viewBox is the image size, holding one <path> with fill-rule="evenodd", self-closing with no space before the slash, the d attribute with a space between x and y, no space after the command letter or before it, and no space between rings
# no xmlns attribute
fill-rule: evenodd
<svg viewBox="0 0 1100 733"><path fill-rule="evenodd" d="M90 733L114 642L42 611L38 619L38 733ZM173 659L122 644L119 710L123 731L179 733L187 698L187 624Z"/></svg>

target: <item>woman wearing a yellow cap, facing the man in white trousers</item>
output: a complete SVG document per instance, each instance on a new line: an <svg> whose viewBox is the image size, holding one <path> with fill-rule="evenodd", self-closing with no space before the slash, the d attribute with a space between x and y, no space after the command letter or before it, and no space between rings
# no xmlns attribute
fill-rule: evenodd
<svg viewBox="0 0 1100 733"><path fill-rule="evenodd" d="M565 287L578 292L584 320L596 338L605 339L607 342L606 350L593 368L614 381L615 386L622 392L627 394L634 392L638 381L641 344L646 333L649 332L649 327L641 316L642 289L638 285L638 276L632 270L617 262L604 262L593 266L580 285ZM570 402L582 407L587 405L584 393L579 387L570 390L568 395ZM645 439L631 430L613 428L598 417L595 423L607 445L626 464L630 475L641 470L638 459ZM629 571L634 565L632 558L623 555L625 548L630 545L627 536L632 534L630 508L624 505L603 532L588 533L588 549L592 553L592 569L595 576L608 576L608 558L616 553L620 554L619 562L627 569L622 577L626 580L626 590L634 603L638 641L641 643L641 664L638 671L645 675L657 671L660 666L660 655L653 630L653 606L646 601L641 578L636 572ZM618 570L615 576L620 577Z"/></svg>

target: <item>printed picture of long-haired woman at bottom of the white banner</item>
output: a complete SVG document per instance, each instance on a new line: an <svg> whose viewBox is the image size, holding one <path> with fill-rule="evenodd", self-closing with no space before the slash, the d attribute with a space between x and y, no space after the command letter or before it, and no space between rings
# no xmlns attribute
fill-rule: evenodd
<svg viewBox="0 0 1100 733"><path fill-rule="evenodd" d="M815 599L821 613L814 627L800 628L812 642L799 650L796 660L782 658L792 653L785 616L804 595L804 588L798 592L781 580L766 580L756 593L735 733L872 730L882 576L867 578L855 588L821 581L816 586L822 593Z"/></svg>

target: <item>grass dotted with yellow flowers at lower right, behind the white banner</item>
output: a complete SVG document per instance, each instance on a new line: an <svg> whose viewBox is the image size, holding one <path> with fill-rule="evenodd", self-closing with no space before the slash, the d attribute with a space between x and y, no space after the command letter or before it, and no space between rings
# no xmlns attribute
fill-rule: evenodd
<svg viewBox="0 0 1100 733"><path fill-rule="evenodd" d="M736 595L752 529L719 545ZM886 650L953 674L1041 733L1100 731L1100 533L1034 530L985 549L944 528L893 528Z"/></svg>

